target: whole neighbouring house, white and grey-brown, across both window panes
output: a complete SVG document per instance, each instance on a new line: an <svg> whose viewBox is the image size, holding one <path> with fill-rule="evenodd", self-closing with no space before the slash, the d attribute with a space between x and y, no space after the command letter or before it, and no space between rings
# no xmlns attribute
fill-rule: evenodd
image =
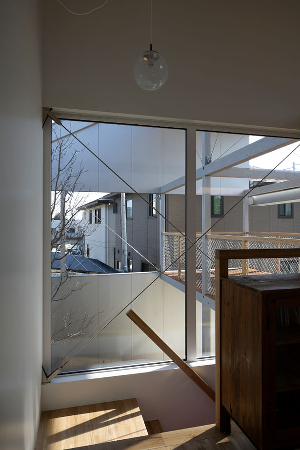
<svg viewBox="0 0 300 450"><path fill-rule="evenodd" d="M143 194L153 201L153 194ZM137 194L126 194L126 231L128 272L146 272L155 270L147 259L160 267L160 228L159 217ZM198 196L196 209L197 233L201 232L201 196ZM155 208L158 209L158 197L155 196ZM240 196L211 196L212 232L243 232L243 206ZM166 232L184 232L184 195L166 195ZM240 202L239 202L240 201ZM234 204L237 206L220 221L220 217ZM105 261L109 266L122 271L121 208L120 193L103 196L86 203L84 228L86 230L84 255ZM249 209L249 231L253 232L300 232L300 204L286 203L273 206L253 206ZM132 247L136 249L138 254ZM175 259L175 256L174 256Z"/></svg>

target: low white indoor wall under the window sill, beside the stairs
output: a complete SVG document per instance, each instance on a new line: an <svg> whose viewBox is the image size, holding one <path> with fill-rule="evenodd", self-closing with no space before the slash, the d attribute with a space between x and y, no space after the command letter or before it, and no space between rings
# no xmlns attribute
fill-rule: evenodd
<svg viewBox="0 0 300 450"><path fill-rule="evenodd" d="M195 367L215 389L215 364ZM64 382L65 381L65 382ZM215 423L215 403L178 368L124 370L55 378L42 386L42 410L137 398L144 420L159 419L164 431Z"/></svg>

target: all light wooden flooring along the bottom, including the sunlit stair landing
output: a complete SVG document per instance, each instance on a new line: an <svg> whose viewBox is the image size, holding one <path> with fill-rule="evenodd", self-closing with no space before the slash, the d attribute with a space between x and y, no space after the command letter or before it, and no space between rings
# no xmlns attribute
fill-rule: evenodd
<svg viewBox="0 0 300 450"><path fill-rule="evenodd" d="M215 425L147 435L135 399L43 412L36 450L68 449L255 450L235 424L230 436Z"/></svg>

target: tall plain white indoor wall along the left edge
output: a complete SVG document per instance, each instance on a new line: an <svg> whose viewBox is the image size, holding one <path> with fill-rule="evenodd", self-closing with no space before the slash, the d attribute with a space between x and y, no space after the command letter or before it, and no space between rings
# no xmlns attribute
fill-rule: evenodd
<svg viewBox="0 0 300 450"><path fill-rule="evenodd" d="M0 449L32 450L40 419L40 2L1 2Z"/></svg>

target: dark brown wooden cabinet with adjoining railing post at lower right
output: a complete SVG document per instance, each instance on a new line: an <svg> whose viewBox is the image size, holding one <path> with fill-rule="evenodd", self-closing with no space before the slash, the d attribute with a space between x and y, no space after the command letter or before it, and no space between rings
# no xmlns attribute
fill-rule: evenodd
<svg viewBox="0 0 300 450"><path fill-rule="evenodd" d="M217 426L233 418L261 450L300 447L300 274L229 277L228 259L270 256L219 252Z"/></svg>

